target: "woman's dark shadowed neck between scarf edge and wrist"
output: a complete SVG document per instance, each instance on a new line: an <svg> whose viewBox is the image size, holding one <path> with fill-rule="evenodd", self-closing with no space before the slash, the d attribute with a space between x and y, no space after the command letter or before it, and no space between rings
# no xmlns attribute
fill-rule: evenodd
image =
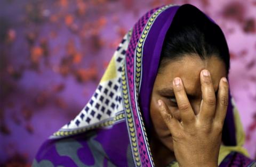
<svg viewBox="0 0 256 167"><path fill-rule="evenodd" d="M150 141L150 150L155 166L167 166L171 161L175 160L174 152L154 137Z"/></svg>

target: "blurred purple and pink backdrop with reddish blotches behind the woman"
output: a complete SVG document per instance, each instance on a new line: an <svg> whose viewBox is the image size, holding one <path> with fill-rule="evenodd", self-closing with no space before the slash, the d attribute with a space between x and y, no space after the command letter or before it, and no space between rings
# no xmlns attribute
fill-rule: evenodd
<svg viewBox="0 0 256 167"><path fill-rule="evenodd" d="M126 31L149 9L169 3L194 4L224 31L231 93L254 158L255 1L3 0L0 165L29 165L42 142L82 110Z"/></svg>

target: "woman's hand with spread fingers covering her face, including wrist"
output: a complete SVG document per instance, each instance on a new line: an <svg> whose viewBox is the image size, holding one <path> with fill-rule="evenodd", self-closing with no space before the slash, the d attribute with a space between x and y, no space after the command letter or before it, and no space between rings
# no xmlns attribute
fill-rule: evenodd
<svg viewBox="0 0 256 167"><path fill-rule="evenodd" d="M195 115L180 78L173 80L181 122L175 119L163 101L160 113L173 138L173 149L179 166L218 166L221 132L228 106L228 82L222 78L215 97L210 72L200 73L202 102Z"/></svg>

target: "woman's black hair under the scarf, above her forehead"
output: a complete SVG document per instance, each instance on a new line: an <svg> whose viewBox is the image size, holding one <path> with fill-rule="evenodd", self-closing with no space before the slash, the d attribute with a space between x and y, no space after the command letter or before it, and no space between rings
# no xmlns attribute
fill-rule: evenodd
<svg viewBox="0 0 256 167"><path fill-rule="evenodd" d="M217 56L229 71L228 45L220 27L196 7L182 5L166 33L159 70L168 60L180 60L185 55L198 55L202 60ZM158 70L158 71L159 71Z"/></svg>

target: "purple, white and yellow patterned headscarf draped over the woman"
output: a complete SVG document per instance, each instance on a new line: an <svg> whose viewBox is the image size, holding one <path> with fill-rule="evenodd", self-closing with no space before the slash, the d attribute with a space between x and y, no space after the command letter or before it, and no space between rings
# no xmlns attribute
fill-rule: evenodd
<svg viewBox="0 0 256 167"><path fill-rule="evenodd" d="M149 148L150 95L164 37L179 7L157 7L135 23L89 102L45 141L33 166L154 166ZM246 154L242 129L236 133L239 118L234 117L233 107L229 103L222 135L226 146L219 163L233 151Z"/></svg>

